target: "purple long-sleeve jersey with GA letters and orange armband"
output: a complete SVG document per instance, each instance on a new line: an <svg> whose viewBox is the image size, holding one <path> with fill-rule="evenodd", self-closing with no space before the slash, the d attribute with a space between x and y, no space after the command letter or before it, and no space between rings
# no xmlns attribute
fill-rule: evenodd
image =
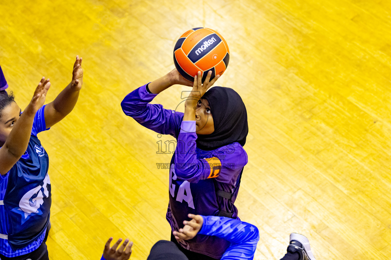
<svg viewBox="0 0 391 260"><path fill-rule="evenodd" d="M148 93L145 86L128 94L121 106L126 115L142 126L170 134L177 140L170 162L166 215L172 231L183 228L189 213L216 216L222 210L232 212L232 218L237 218L237 208L233 205L238 192L235 187L248 161L243 147L235 142L211 151L197 148L195 121L183 121L183 113L163 109L161 104L149 104L156 94ZM216 189L233 193L233 196L230 200L217 196ZM183 248L213 258L221 258L229 245L225 239L206 235L197 235L181 244Z"/></svg>

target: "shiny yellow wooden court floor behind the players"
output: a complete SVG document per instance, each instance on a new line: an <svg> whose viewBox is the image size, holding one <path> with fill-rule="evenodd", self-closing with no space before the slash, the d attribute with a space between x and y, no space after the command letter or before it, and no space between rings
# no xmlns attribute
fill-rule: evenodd
<svg viewBox="0 0 391 260"><path fill-rule="evenodd" d="M235 203L258 226L255 259L280 259L289 233L317 259L391 258L391 2L388 0L2 1L0 64L24 108L42 76L51 101L83 57L75 110L41 133L50 157L50 258L97 260L129 237L145 260L165 220L172 140L120 108L169 72L178 37L209 27L228 42L216 85L248 110L249 163ZM154 99L174 109L174 86ZM163 143L164 144L164 143ZM171 149L172 150L172 149Z"/></svg>

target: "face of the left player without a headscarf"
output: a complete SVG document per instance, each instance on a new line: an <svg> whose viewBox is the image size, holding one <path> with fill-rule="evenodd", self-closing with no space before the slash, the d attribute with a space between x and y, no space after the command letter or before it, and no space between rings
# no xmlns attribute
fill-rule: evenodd
<svg viewBox="0 0 391 260"><path fill-rule="evenodd" d="M5 140L7 140L7 137L9 136L9 133L11 133L13 126L19 119L21 112L22 111L16 102L11 102L11 104L6 106L3 111L1 111L0 146L4 145Z"/></svg>

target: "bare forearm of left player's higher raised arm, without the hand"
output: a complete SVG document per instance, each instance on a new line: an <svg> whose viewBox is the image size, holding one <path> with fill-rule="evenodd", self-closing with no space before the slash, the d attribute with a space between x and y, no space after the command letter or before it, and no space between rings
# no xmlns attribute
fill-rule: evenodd
<svg viewBox="0 0 391 260"><path fill-rule="evenodd" d="M72 87L72 82L58 94L54 101L45 106L46 128L63 120L75 107L80 90Z"/></svg>

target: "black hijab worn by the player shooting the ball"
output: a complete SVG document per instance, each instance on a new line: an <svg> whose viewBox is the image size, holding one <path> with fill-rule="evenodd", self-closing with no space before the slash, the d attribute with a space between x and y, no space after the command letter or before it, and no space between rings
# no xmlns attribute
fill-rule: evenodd
<svg viewBox="0 0 391 260"><path fill-rule="evenodd" d="M248 134L246 106L232 88L213 87L201 99L209 102L215 131L212 134L197 134L197 147L214 150L230 143L244 146Z"/></svg>

